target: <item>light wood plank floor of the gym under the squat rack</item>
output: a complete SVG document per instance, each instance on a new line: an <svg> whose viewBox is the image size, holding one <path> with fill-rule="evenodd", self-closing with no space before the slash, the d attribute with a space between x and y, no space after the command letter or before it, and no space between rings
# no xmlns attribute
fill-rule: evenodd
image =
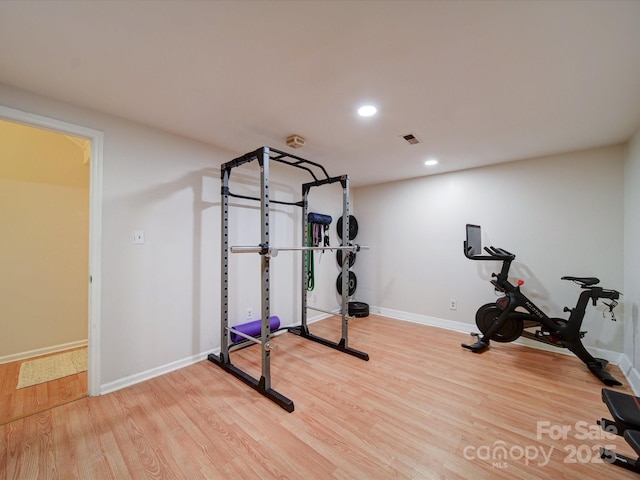
<svg viewBox="0 0 640 480"><path fill-rule="evenodd" d="M602 385L572 356L476 355L465 334L376 316L352 320L349 338L369 362L273 340L273 388L293 413L205 360L0 426L0 479L638 478L598 458L600 445L631 450L601 438ZM232 355L258 375L255 347Z"/></svg>

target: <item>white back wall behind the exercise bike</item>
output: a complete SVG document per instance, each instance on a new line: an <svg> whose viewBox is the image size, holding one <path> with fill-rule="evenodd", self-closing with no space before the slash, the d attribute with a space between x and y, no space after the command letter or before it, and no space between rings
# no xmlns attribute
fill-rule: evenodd
<svg viewBox="0 0 640 480"><path fill-rule="evenodd" d="M400 318L473 330L476 309L496 298L488 280L500 263L464 257L467 223L482 226L484 245L517 255L512 276L552 316L565 317L579 293L563 275L597 276L622 290L624 152L613 146L356 189L358 240L373 248L355 267L359 299ZM621 352L622 322L587 315L585 344Z"/></svg>

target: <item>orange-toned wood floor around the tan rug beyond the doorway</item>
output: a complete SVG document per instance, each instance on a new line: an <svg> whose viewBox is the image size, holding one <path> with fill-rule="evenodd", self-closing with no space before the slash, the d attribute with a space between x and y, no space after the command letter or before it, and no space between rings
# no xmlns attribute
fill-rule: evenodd
<svg viewBox="0 0 640 480"><path fill-rule="evenodd" d="M0 425L87 396L87 372L16 390L23 362L0 364Z"/></svg>

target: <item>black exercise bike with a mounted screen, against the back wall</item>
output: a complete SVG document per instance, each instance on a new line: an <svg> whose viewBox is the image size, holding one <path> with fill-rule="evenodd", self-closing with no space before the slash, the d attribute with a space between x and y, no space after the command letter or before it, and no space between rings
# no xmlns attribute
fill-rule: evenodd
<svg viewBox="0 0 640 480"><path fill-rule="evenodd" d="M594 306L599 299L611 300L610 303L603 303L608 307L611 319L615 321L613 309L618 305L620 292L597 287L600 280L595 277L562 277L562 280L580 285L582 292L574 308L564 308L565 312L570 313L568 320L549 317L520 291L520 287L524 284L522 280L518 280L517 285L509 282L509 268L516 256L507 250L493 246L484 247L484 252L488 255L482 255L480 226L467 225L466 233L464 254L467 258L502 262L500 273L491 275L493 277L491 283L504 296L478 309L476 325L482 332L482 337L478 333L472 333L476 342L471 345L463 343L464 348L474 353L481 353L489 348L490 340L513 342L522 336L554 347L568 348L605 385L622 385L606 371L609 363L607 360L595 358L587 351L582 344L582 338L587 332L580 331L590 300Z"/></svg>

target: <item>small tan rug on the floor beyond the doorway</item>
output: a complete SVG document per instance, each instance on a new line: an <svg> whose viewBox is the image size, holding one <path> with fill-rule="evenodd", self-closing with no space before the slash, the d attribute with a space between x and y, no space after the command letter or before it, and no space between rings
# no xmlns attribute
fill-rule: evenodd
<svg viewBox="0 0 640 480"><path fill-rule="evenodd" d="M87 349L36 358L20 365L16 389L50 382L87 370Z"/></svg>

